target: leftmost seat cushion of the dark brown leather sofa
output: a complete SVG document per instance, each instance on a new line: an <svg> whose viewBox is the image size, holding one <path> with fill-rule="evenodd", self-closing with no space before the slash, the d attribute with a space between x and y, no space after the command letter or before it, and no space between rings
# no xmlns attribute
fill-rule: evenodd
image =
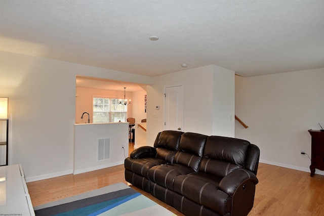
<svg viewBox="0 0 324 216"><path fill-rule="evenodd" d="M125 168L135 172L136 174L148 179L148 170L156 165L165 164L167 161L154 157L133 159L128 157L125 159Z"/></svg>

